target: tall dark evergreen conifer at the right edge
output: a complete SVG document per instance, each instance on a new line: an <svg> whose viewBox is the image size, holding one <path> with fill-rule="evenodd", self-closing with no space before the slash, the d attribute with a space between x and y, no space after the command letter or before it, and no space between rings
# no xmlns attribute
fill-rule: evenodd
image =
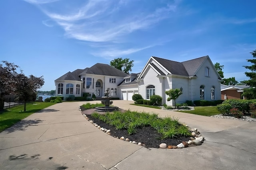
<svg viewBox="0 0 256 170"><path fill-rule="evenodd" d="M256 50L250 52L250 54L252 54L253 58L256 58ZM244 83L247 86L250 86L250 88L245 88L242 95L245 96L247 99L255 99L256 98L256 59L247 59L247 61L252 63L252 65L243 66L243 67L251 70L252 72L245 72L244 74L247 77L250 77L250 80L244 80L244 81L241 81L241 83Z"/></svg>

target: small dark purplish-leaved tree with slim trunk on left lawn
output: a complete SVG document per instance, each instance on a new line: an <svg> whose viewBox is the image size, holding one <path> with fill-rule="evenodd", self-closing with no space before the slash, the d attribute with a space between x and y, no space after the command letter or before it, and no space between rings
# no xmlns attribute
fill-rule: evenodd
<svg viewBox="0 0 256 170"><path fill-rule="evenodd" d="M36 90L44 85L43 76L35 77L30 75L29 77L24 74L18 74L15 77L16 89L15 92L18 98L24 102L24 112L26 111L26 103L31 101Z"/></svg>

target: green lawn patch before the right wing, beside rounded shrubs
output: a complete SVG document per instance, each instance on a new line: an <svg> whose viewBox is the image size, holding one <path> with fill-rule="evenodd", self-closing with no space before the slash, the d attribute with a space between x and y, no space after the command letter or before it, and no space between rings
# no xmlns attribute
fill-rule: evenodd
<svg viewBox="0 0 256 170"><path fill-rule="evenodd" d="M217 110L217 106L195 106L194 109L195 110L184 110L184 111L178 111L178 112L198 114L202 116L212 116L216 114L221 114Z"/></svg>

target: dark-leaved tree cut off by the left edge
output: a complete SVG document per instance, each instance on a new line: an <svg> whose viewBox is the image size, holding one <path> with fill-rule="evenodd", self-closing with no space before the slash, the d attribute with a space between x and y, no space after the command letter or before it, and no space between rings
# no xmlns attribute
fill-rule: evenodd
<svg viewBox="0 0 256 170"><path fill-rule="evenodd" d="M18 74L16 70L19 68L14 63L7 61L2 63L0 64L0 110L4 108L4 96L14 92L16 83L14 77Z"/></svg>

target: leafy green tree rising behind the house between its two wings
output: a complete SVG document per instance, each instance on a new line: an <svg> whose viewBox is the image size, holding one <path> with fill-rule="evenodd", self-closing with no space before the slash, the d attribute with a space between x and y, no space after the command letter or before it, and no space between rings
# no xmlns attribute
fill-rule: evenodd
<svg viewBox="0 0 256 170"><path fill-rule="evenodd" d="M110 66L113 66L114 68L129 74L129 72L132 71L132 67L134 66L134 60L129 60L130 59L128 58L115 58L114 60L110 61Z"/></svg>

